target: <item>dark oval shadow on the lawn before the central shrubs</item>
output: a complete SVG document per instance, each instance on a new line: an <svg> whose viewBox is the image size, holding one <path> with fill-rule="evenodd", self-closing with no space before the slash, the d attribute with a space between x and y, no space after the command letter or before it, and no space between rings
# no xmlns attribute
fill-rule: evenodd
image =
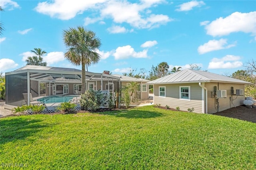
<svg viewBox="0 0 256 170"><path fill-rule="evenodd" d="M114 110L114 111L106 111L106 112L100 112L97 114L101 115L113 115L116 117L125 117L125 118L154 118L154 117L161 117L164 114L157 112L157 111L145 111L142 109L120 109L120 110Z"/></svg>

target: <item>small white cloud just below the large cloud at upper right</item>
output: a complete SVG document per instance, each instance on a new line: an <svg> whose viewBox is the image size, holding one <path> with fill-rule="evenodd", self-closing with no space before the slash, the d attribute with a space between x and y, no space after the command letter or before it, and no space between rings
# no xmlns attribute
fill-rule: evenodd
<svg viewBox="0 0 256 170"><path fill-rule="evenodd" d="M236 43L236 42L235 42ZM220 40L210 40L204 45L200 45L197 49L199 54L208 53L210 51L216 51L220 49L228 49L230 47L236 46L236 44L227 45L227 39L220 39ZM226 45L226 46L225 46Z"/></svg>

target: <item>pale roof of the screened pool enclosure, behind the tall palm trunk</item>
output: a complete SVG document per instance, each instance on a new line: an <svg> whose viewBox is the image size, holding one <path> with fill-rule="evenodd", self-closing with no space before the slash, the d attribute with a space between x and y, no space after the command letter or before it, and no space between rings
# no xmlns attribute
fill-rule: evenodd
<svg viewBox="0 0 256 170"><path fill-rule="evenodd" d="M75 68L26 65L5 75L30 73L31 80L40 82L81 82L82 71ZM86 80L118 80L119 77L86 71Z"/></svg>

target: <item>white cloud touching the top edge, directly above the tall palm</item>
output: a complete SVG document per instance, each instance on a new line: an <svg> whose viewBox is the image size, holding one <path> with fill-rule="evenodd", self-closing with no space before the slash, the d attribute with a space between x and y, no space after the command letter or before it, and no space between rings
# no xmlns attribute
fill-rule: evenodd
<svg viewBox="0 0 256 170"><path fill-rule="evenodd" d="M60 20L70 20L85 10L96 8L106 0L53 0L38 3L35 10Z"/></svg>

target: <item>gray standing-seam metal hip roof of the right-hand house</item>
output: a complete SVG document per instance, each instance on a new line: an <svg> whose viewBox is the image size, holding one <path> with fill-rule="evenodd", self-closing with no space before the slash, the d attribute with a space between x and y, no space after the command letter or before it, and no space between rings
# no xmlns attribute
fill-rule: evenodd
<svg viewBox="0 0 256 170"><path fill-rule="evenodd" d="M185 69L173 74L169 74L162 78L147 82L147 84L176 84L176 83L195 83L195 82L225 82L225 83L238 83L238 84L253 84L243 80L230 78L206 72L201 70Z"/></svg>

